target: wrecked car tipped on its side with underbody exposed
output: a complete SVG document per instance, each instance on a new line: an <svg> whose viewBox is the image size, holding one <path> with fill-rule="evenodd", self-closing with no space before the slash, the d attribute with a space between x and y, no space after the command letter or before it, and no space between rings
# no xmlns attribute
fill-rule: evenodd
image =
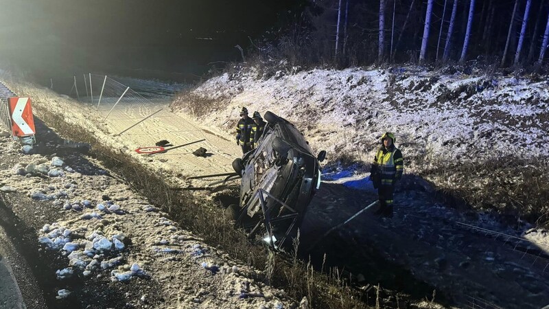
<svg viewBox="0 0 549 309"><path fill-rule="evenodd" d="M226 215L248 232L279 248L292 239L307 207L320 187L320 161L303 134L286 119L266 112L268 122L257 148L233 161L242 176L240 204L229 205Z"/></svg>

